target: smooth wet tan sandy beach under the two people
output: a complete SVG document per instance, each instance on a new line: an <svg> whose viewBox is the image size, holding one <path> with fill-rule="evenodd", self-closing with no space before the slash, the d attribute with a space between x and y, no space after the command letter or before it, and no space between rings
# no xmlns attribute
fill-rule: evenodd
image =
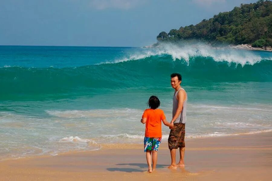
<svg viewBox="0 0 272 181"><path fill-rule="evenodd" d="M5 160L0 180L270 180L272 132L186 140L185 168L169 170L166 140L157 170L146 173L143 145L107 144L98 151Z"/></svg>

